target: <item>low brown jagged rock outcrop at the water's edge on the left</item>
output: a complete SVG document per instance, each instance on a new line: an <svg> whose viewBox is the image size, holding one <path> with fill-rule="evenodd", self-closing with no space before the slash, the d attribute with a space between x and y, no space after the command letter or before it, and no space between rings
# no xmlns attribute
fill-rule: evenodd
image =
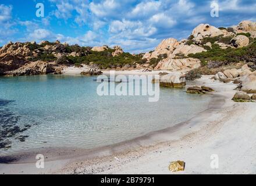
<svg viewBox="0 0 256 186"><path fill-rule="evenodd" d="M19 69L9 71L6 76L31 76L31 75L40 75L40 74L49 74L56 72L56 69L53 64L48 62L31 62L20 67Z"/></svg>

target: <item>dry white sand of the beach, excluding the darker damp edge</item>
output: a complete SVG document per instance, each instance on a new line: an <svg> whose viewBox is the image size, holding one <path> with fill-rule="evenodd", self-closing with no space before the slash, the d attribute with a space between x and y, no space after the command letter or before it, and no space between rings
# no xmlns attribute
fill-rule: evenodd
<svg viewBox="0 0 256 186"><path fill-rule="evenodd" d="M256 103L234 103L236 85L223 84L204 76L196 81L215 88L225 98L225 105L211 115L202 113L190 123L187 134L179 140L143 148L124 155L83 162L61 173L99 174L248 174L256 173ZM184 131L177 132L183 134ZM212 169L211 155L218 155L219 168ZM171 173L169 163L186 162L185 171Z"/></svg>

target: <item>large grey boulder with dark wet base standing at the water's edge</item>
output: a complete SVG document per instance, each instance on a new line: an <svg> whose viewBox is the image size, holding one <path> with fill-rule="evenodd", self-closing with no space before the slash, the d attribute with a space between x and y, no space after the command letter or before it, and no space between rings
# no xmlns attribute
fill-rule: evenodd
<svg viewBox="0 0 256 186"><path fill-rule="evenodd" d="M160 76L159 80L153 80L153 83L159 81L160 86L170 88L183 88L186 85L186 77L183 73L172 72L164 76Z"/></svg>

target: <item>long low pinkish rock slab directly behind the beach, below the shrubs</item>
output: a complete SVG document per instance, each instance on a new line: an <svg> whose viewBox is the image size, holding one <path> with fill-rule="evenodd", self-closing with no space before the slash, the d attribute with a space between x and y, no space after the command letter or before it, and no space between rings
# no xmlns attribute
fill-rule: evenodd
<svg viewBox="0 0 256 186"><path fill-rule="evenodd" d="M166 59L162 60L155 67L156 70L172 70L187 72L201 66L199 59L184 58L184 59Z"/></svg>

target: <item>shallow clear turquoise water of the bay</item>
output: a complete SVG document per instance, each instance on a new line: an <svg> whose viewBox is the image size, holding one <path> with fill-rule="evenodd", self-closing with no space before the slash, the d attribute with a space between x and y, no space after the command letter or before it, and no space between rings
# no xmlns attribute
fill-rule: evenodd
<svg viewBox="0 0 256 186"><path fill-rule="evenodd" d="M98 96L99 83L94 79L1 77L0 142L7 140L10 148L0 153L41 147L95 148L131 140L186 121L207 109L211 100L169 88L160 89L158 102L148 102L148 96ZM3 135L13 126L20 129Z"/></svg>

